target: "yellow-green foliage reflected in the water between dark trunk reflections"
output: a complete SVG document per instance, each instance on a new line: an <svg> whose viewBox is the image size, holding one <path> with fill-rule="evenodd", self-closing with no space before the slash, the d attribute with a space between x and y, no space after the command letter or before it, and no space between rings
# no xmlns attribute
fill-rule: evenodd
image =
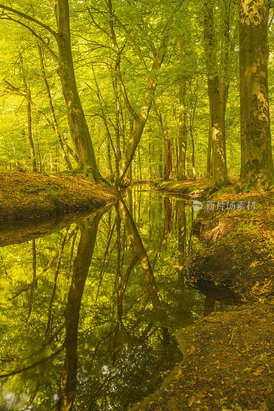
<svg viewBox="0 0 274 411"><path fill-rule="evenodd" d="M190 324L193 317L203 311L203 298L178 282L175 200L172 200L170 233L164 245L165 209L158 196L136 189L127 193L126 202L149 256L169 331L159 322L152 307L143 270L139 263L135 264L135 254L123 223L120 231L116 227L120 219L112 208L99 223L82 297L77 331L75 410L101 411L105 404L123 410L130 402L148 395L160 382L160 371L169 369L179 356L177 342L170 337L172 330ZM191 244L188 240L191 210L186 208L185 214L184 244L185 254L189 255L199 244L197 240L192 239ZM11 396L14 403L7 409L28 409L32 404L34 409L48 410L57 400L65 358L63 344L65 337L66 341L69 338L64 327L64 311L80 231L85 229L84 225L79 227L78 232L75 226L69 228L63 251L63 232L36 241L37 289L33 282L31 241L1 250L0 338L3 343L0 373L5 375L30 367L2 380L2 404L7 396ZM56 276L58 256L60 267ZM49 261L51 265L43 272ZM56 290L46 333L54 277ZM125 285L124 293L121 284ZM22 291L24 289L26 291Z"/></svg>

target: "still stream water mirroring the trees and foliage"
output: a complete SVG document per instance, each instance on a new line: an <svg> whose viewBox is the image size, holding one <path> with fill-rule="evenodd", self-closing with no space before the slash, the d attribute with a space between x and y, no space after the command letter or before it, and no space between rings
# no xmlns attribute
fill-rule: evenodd
<svg viewBox="0 0 274 411"><path fill-rule="evenodd" d="M173 333L207 305L185 279L195 213L148 186L123 197L0 249L1 411L124 411L180 361Z"/></svg>

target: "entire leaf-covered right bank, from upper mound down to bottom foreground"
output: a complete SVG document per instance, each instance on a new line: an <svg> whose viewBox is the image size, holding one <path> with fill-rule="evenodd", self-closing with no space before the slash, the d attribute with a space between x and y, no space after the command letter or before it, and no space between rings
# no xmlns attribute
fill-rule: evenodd
<svg viewBox="0 0 274 411"><path fill-rule="evenodd" d="M189 265L190 282L230 307L177 331L183 362L130 411L274 409L273 216L274 193L230 186L203 200L194 233L206 247Z"/></svg>

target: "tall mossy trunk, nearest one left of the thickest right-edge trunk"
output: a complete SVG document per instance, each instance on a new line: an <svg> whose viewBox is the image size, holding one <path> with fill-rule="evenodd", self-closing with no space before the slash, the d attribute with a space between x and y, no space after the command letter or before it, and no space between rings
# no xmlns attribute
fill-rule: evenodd
<svg viewBox="0 0 274 411"><path fill-rule="evenodd" d="M212 170L213 183L218 186L229 184L223 136L223 115L220 99L219 76L216 67L214 45L213 1L204 3L204 47L207 66L207 87L212 118Z"/></svg>

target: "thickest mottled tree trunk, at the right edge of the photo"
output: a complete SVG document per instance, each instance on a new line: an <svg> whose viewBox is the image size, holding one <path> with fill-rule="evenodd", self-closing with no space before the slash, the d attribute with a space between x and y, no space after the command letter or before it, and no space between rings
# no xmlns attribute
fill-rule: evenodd
<svg viewBox="0 0 274 411"><path fill-rule="evenodd" d="M274 186L267 78L269 2L240 0L241 174L238 190Z"/></svg>

